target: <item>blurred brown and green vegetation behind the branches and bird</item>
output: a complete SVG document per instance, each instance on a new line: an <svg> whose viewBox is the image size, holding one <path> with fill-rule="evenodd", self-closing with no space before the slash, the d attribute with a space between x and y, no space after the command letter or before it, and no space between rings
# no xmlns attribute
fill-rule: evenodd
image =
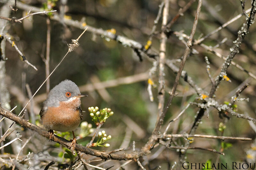
<svg viewBox="0 0 256 170"><path fill-rule="evenodd" d="M35 6L43 9L53 9L60 13L60 6L63 1L61 0L23 0L22 3ZM170 0L170 13L169 20L171 20L179 11L184 7L188 0ZM161 4L159 0L73 0L67 1L65 5L65 19L77 20L86 23L88 26L96 28L102 28L103 30L110 30L117 35L123 35L129 39L146 44L154 20L158 12L158 5ZM1 1L0 7L4 5L4 1ZM12 5L13 6L13 5ZM191 27L194 22L195 10L197 7L197 1L177 20L172 26L172 31L183 31L183 33L189 35ZM245 9L251 7L250 1L245 3ZM11 10L11 9L10 9ZM26 15L26 12L18 8L16 18L21 18ZM238 14L242 13L242 8L239 0L204 0L202 10L200 13L199 22L197 25L197 31L195 39L202 37L217 27L226 23L231 18L234 18ZM13 15L11 13L10 18ZM52 14L54 15L54 13ZM22 23L8 24L5 29L8 30L8 35L15 41L16 45L27 57L28 61L35 65L38 71L29 67L26 63L22 62L19 54L15 51L10 44L6 44L6 84L7 89L10 92L10 105L11 108L17 105L17 108L13 113L19 114L21 109L27 103L23 97L28 98L28 93L25 88L25 84L28 84L34 93L37 88L45 80L45 64L42 57L45 57L46 50L46 34L47 25L46 18L51 16L46 15L34 15L23 20ZM160 30L161 19L157 25L157 30ZM215 46L220 43L224 38L228 38L220 47L215 48L220 54L227 56L230 51L229 48L233 45L233 41L236 40L237 31L245 22L245 17L241 17L232 24L223 28L219 32L213 34L211 37L203 41L208 46ZM83 30L77 29L72 26L67 26L63 23L51 20L51 45L50 45L50 71L59 63L62 57L68 51L67 43L71 43L71 39L76 39ZM2 28L0 28L2 29ZM111 30L112 29L112 30ZM240 53L236 55L234 61L241 65L244 69L256 74L256 27L252 25L249 29L249 34L245 38L240 48ZM84 87L87 84L93 84L97 82L104 82L108 80L114 80L117 78L124 78L127 76L133 76L140 73L140 80L125 85L113 85L113 87L103 90L95 90L86 87L82 92L88 94L89 97L82 98L82 109L85 111L84 120L92 124L95 128L95 124L91 121L91 117L88 112L88 107L98 106L99 108L111 108L114 115L109 117L107 122L104 123L101 130L105 130L112 138L108 141L110 147L103 148L97 147L98 150L112 150L119 148L124 144L125 148L131 149L132 141L136 141L136 148L140 148L147 141L152 130L155 127L156 113L157 113L157 88L153 89L154 102L150 102L147 92L148 86L148 70L152 67L153 60L143 55L143 61L140 62L139 57L129 47L124 47L122 44L101 38L94 33L85 32L79 40L80 46L64 59L60 67L50 77L50 89L59 84L64 79L70 79L75 82L79 87ZM204 56L208 56L211 63L211 73L215 77L219 74L220 68L224 60L216 57L216 55L208 52L201 46L193 46L198 52L190 55L188 58L184 70L188 72L188 75L202 87L204 90L209 91L211 88L211 82L205 71ZM156 34L152 40L152 50L159 53L159 34ZM185 46L179 40L179 37L171 35L167 42L166 55L168 59L179 59L184 53ZM179 63L176 64L179 66ZM229 67L227 76L231 79L232 83L223 81L216 92L216 100L219 103L230 101L237 90L237 87L244 81L248 82L250 86L241 94L241 97L249 97L250 101L238 101L237 112L241 114L249 115L253 118L255 116L255 84L256 81L250 78L247 73L237 69L234 66ZM153 76L153 81L157 85L158 73ZM171 91L174 83L175 74L172 70L165 69L165 81L166 92ZM133 80L133 78L131 78ZM119 82L122 84L122 81ZM104 83L103 83L104 84ZM89 90L88 90L89 89ZM179 92L178 96L172 101L172 105L169 108L164 126L171 119L175 118L180 111L191 101L197 101L196 92L189 87L189 85L180 79L180 83L177 88ZM45 85L35 96L35 106L41 108L42 102L45 100L44 94L46 93ZM168 93L166 93L166 99ZM34 114L36 115L36 122L40 124L39 111L34 108ZM180 119L173 123L169 129L169 133L184 133L188 132L191 123L193 122L198 108L190 106L184 115ZM25 115L26 119L30 119L29 115L31 110L28 108L28 113ZM132 126L131 122L136 124ZM252 130L247 120L239 119L231 116L230 120L220 119L218 112L215 109L210 109L210 117L203 118L202 123L196 130L196 134L207 135L222 135L219 129L219 123L225 122L226 129L223 132L224 136L234 137L251 137L255 138L255 132ZM130 126L129 126L130 125ZM16 125L18 126L18 125ZM138 126L138 127L137 127ZM19 127L19 126L18 126ZM138 129L139 128L139 129ZM2 128L1 128L2 130ZM16 144L22 146L25 139L27 139L32 133L27 129L19 130L23 137L23 142L17 141ZM79 128L76 131L76 135L79 135ZM4 133L3 131L2 133ZM66 137L68 140L72 135L69 133L59 134ZM129 136L130 135L130 136ZM126 138L125 138L126 137ZM128 137L128 138L127 138ZM66 152L66 149L62 148L54 142L48 142L44 137L40 137L35 134L35 140L31 140L27 147L23 150L22 155L27 155L28 152L33 152L35 155L39 153L48 152L58 161L59 164L70 163L73 158L64 159L62 153ZM78 144L86 145L91 137L85 137L78 140ZM8 142L12 139L5 141ZM184 139L177 139L176 142L179 145L184 144ZM204 148L212 148L220 151L224 149L225 156L220 156L216 153L202 151L202 150L188 150L187 161L188 162L206 162L207 160L212 163L217 162L243 162L246 157L248 158L248 150L253 144L253 141L236 141L225 140L225 144L221 144L221 140L202 139L195 138L195 141L191 146L200 146ZM41 145L40 145L40 144ZM224 146L225 145L225 146ZM227 146L228 145L228 146ZM39 147L41 146L41 147ZM159 146L163 147L163 146ZM159 147L153 149L151 152L154 154L159 150ZM11 146L1 150L2 154L15 153ZM151 154L151 155L152 155ZM68 158L66 155L65 158ZM148 156L148 159L150 156ZM252 157L251 157L252 158ZM52 158L53 159L53 158ZM92 156L85 156L86 160L92 159ZM174 161L178 161L179 151L173 149L163 148L161 154L156 159L149 161L149 164L145 166L147 169L154 169L159 165L162 169L170 169ZM142 159L142 162L147 161L146 157ZM254 160L254 159L253 159ZM45 164L40 164L40 167L47 165L47 160L44 160ZM48 160L49 162L49 160ZM102 165L107 168L110 165L115 165L111 169L116 169L122 164L123 161L108 161ZM92 163L93 165L99 164L99 162ZM2 166L3 164L1 164ZM56 166L57 164L55 164ZM63 165L64 166L64 165ZM7 166L5 166L7 167ZM52 166L51 166L52 167ZM54 166L52 167L54 169ZM131 163L127 169L138 169L136 163Z"/></svg>

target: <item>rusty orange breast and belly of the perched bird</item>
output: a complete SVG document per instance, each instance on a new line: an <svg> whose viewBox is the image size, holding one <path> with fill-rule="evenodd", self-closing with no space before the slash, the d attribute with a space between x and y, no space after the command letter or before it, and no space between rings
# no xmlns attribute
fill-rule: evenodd
<svg viewBox="0 0 256 170"><path fill-rule="evenodd" d="M43 125L47 130L61 132L75 130L80 121L79 110L70 107L66 102L60 102L59 107L48 107L42 117Z"/></svg>

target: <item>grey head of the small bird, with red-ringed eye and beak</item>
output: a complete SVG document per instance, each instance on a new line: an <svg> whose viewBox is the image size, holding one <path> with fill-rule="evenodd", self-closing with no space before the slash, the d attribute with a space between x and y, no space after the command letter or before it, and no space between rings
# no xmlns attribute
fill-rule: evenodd
<svg viewBox="0 0 256 170"><path fill-rule="evenodd" d="M60 84L53 87L48 98L44 101L46 107L58 107L60 101L72 100L76 97L83 97L77 85L70 80L63 80Z"/></svg>

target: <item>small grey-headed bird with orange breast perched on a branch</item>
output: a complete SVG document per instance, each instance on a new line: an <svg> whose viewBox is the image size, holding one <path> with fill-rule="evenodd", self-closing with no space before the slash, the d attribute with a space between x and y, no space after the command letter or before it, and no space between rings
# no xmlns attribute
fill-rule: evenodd
<svg viewBox="0 0 256 170"><path fill-rule="evenodd" d="M80 98L86 96L80 93L74 82L63 80L50 91L39 113L44 127L49 130L50 140L54 141L53 130L72 131L73 140L68 148L72 153L75 153L76 146L74 130L83 119Z"/></svg>

